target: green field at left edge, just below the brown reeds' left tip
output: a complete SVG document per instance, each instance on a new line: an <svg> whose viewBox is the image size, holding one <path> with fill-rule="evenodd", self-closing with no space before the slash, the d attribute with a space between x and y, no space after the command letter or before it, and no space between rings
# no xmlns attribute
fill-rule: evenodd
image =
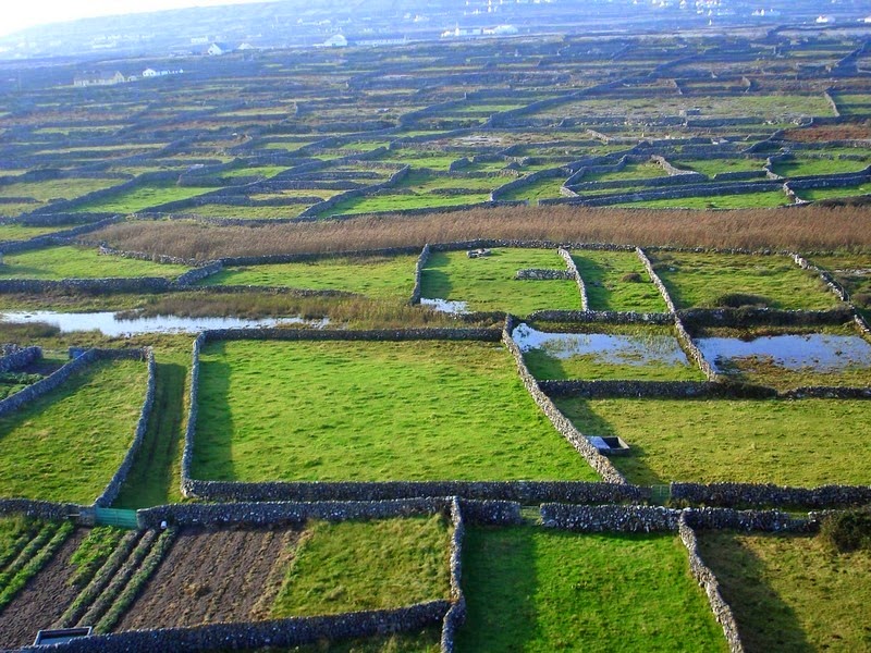
<svg viewBox="0 0 871 653"><path fill-rule="evenodd" d="M187 268L120 256L96 247L62 246L3 256L0 279L98 279L105 276L179 276Z"/></svg>

